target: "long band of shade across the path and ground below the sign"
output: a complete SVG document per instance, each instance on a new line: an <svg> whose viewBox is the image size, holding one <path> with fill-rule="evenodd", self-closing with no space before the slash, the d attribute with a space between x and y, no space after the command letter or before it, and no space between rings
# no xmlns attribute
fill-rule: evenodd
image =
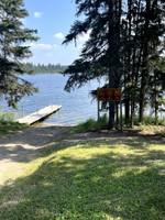
<svg viewBox="0 0 165 220"><path fill-rule="evenodd" d="M59 139L63 139L65 135L67 136L66 139L67 145L76 144L79 142L86 142L89 140L101 141L105 139L107 139L108 141L111 140L112 142L116 141L123 142L125 136L130 136L131 139L130 144L132 147L134 146L139 148L144 148L145 139L147 140L148 138L148 140L151 140L153 138L154 141L157 141L157 138L155 138L155 135L154 136L139 135L140 132L139 130L136 131L124 130L123 132L102 131L99 134L97 132L68 133L68 131L70 130L72 130L70 127L58 127L58 125L52 128L48 127L47 129L31 127L29 129L19 131L13 135L0 136L0 161L9 160L11 162L29 163L42 156L42 150L41 150L42 147L44 147L46 144L50 144L50 146L46 147L48 152L48 148L51 150L52 145ZM132 142L132 139L136 136L142 138L141 145L139 144L140 140L138 142L135 140Z"/></svg>

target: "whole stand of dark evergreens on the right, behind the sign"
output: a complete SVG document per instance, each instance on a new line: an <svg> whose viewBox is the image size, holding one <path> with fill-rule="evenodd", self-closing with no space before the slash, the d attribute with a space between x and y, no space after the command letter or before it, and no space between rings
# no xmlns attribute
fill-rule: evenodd
<svg viewBox="0 0 165 220"><path fill-rule="evenodd" d="M144 121L148 105L155 111L164 110L165 92L165 2L163 0L76 0L76 21L64 44L90 31L80 58L66 70L69 76L65 89L70 91L94 78L106 76L105 87L122 87L125 122L135 114ZM97 89L97 88L96 88ZM95 94L95 92L94 92ZM118 109L118 108L117 108ZM109 105L113 127L114 103Z"/></svg>

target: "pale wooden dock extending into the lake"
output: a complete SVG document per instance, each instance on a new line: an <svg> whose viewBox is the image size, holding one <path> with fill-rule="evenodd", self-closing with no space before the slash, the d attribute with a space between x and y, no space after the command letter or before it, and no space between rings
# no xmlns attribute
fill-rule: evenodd
<svg viewBox="0 0 165 220"><path fill-rule="evenodd" d="M62 108L62 106L48 106L45 107L44 109L41 109L34 113L31 113L26 117L23 117L21 119L16 119L19 123L28 123L28 124L33 124L37 121L41 121L45 119L46 117L51 116L52 113L58 111Z"/></svg>

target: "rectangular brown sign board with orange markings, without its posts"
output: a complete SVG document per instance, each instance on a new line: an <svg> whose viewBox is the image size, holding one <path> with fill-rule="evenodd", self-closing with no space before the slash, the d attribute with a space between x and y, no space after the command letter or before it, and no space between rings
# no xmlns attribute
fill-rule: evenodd
<svg viewBox="0 0 165 220"><path fill-rule="evenodd" d="M121 101L121 88L103 88L97 90L98 101Z"/></svg>

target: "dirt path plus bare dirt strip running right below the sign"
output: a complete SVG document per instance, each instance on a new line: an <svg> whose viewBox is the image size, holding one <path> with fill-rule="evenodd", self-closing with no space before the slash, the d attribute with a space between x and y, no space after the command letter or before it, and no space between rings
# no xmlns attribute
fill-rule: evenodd
<svg viewBox="0 0 165 220"><path fill-rule="evenodd" d="M70 127L42 124L18 131L11 135L0 135L0 188L10 185L20 176L23 176L30 162L42 156L42 148L53 145L61 139L64 142L75 144L90 140L105 140L122 142L127 139L135 139L140 135L135 131L111 132L84 132L69 133ZM145 139L151 136L145 135ZM154 138L155 139L155 138ZM158 138L160 139L160 138ZM158 141L157 138L155 141ZM14 173L14 175L13 175ZM14 177L13 177L14 176Z"/></svg>

